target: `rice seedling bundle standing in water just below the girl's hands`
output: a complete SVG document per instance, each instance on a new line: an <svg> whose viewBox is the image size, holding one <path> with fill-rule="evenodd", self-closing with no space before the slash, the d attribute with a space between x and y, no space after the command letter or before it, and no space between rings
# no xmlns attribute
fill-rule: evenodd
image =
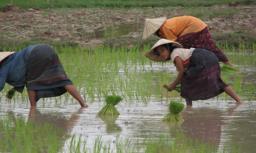
<svg viewBox="0 0 256 153"><path fill-rule="evenodd" d="M180 116L180 112L184 109L184 104L171 101L168 106L170 113L167 114L162 121L175 121L175 122L183 122L184 119Z"/></svg>

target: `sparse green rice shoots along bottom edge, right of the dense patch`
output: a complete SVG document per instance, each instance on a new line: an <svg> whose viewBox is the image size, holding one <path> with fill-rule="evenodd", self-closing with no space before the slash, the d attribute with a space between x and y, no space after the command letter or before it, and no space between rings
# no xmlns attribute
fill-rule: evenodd
<svg viewBox="0 0 256 153"><path fill-rule="evenodd" d="M75 137L73 135L73 137ZM114 142L114 143L113 143ZM138 152L146 152L146 153L208 153L208 152L226 152L223 147L222 150L218 150L215 145L215 142L203 142L198 139L189 139L184 136L180 136L179 133L176 134L175 138L171 138L169 136L160 135L158 139L153 139L151 137L144 138L142 140L132 141L129 138L123 138L119 135L116 136L115 140L103 140L102 136L98 136L94 139L93 148L88 148L87 140L82 140L81 135L79 139L76 140L72 138L71 145L69 146L69 152L93 152L93 153L108 153L108 152L129 152L129 153L138 153ZM232 146L232 153L241 152L239 148L236 146ZM91 150L91 151L90 151Z"/></svg>

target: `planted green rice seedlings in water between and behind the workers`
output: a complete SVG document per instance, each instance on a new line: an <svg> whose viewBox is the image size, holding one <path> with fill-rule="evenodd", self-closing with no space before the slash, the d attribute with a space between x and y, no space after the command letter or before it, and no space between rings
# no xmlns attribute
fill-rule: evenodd
<svg viewBox="0 0 256 153"><path fill-rule="evenodd" d="M243 44L247 48L246 43ZM103 45L95 49L54 47L68 77L86 101L104 101L106 95L120 95L125 101L142 103L147 103L152 98L166 103L169 103L170 100L179 100L179 92L166 92L166 89L162 88L162 84L169 84L176 78L177 73L169 72L167 69L172 64L148 60L143 54L149 48L150 45L145 45L143 48L137 45L129 50L125 46L114 49ZM237 49L224 50L226 53L231 53L227 54L229 60L236 67L241 67L241 72L244 69L255 67L253 63L255 63L256 56L252 54L255 51L242 48L241 51ZM15 50L21 50L21 48ZM240 53L234 54L233 52ZM151 66L158 67L158 69L152 69ZM223 71L221 74L226 80L225 82L238 91L239 95L253 99L255 86L252 83L247 84L246 80L242 79L239 83L235 83L239 79L230 78L230 76L239 78L241 73ZM242 84L241 88L238 87L239 84ZM249 87L250 90L247 90L246 87ZM6 84L0 92L0 101L29 104L26 90L23 94L16 93L12 100L7 99L5 95L10 89L11 86ZM221 94L219 98L227 97L225 94ZM77 104L76 100L68 93L55 98L42 99L40 103L45 101L55 105Z"/></svg>

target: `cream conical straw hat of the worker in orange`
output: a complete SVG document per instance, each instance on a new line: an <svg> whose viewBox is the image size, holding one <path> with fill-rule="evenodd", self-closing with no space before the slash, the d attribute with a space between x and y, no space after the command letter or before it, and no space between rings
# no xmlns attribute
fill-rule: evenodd
<svg viewBox="0 0 256 153"><path fill-rule="evenodd" d="M146 39L155 33L165 22L166 17L145 19L145 26L143 31L142 39Z"/></svg>

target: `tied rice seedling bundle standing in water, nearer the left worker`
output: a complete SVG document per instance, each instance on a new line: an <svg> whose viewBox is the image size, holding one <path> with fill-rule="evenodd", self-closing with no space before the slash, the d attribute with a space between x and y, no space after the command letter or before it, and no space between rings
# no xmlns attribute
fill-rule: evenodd
<svg viewBox="0 0 256 153"><path fill-rule="evenodd" d="M122 98L120 96L106 96L106 105L98 112L98 115L119 115L120 113L114 107Z"/></svg>

